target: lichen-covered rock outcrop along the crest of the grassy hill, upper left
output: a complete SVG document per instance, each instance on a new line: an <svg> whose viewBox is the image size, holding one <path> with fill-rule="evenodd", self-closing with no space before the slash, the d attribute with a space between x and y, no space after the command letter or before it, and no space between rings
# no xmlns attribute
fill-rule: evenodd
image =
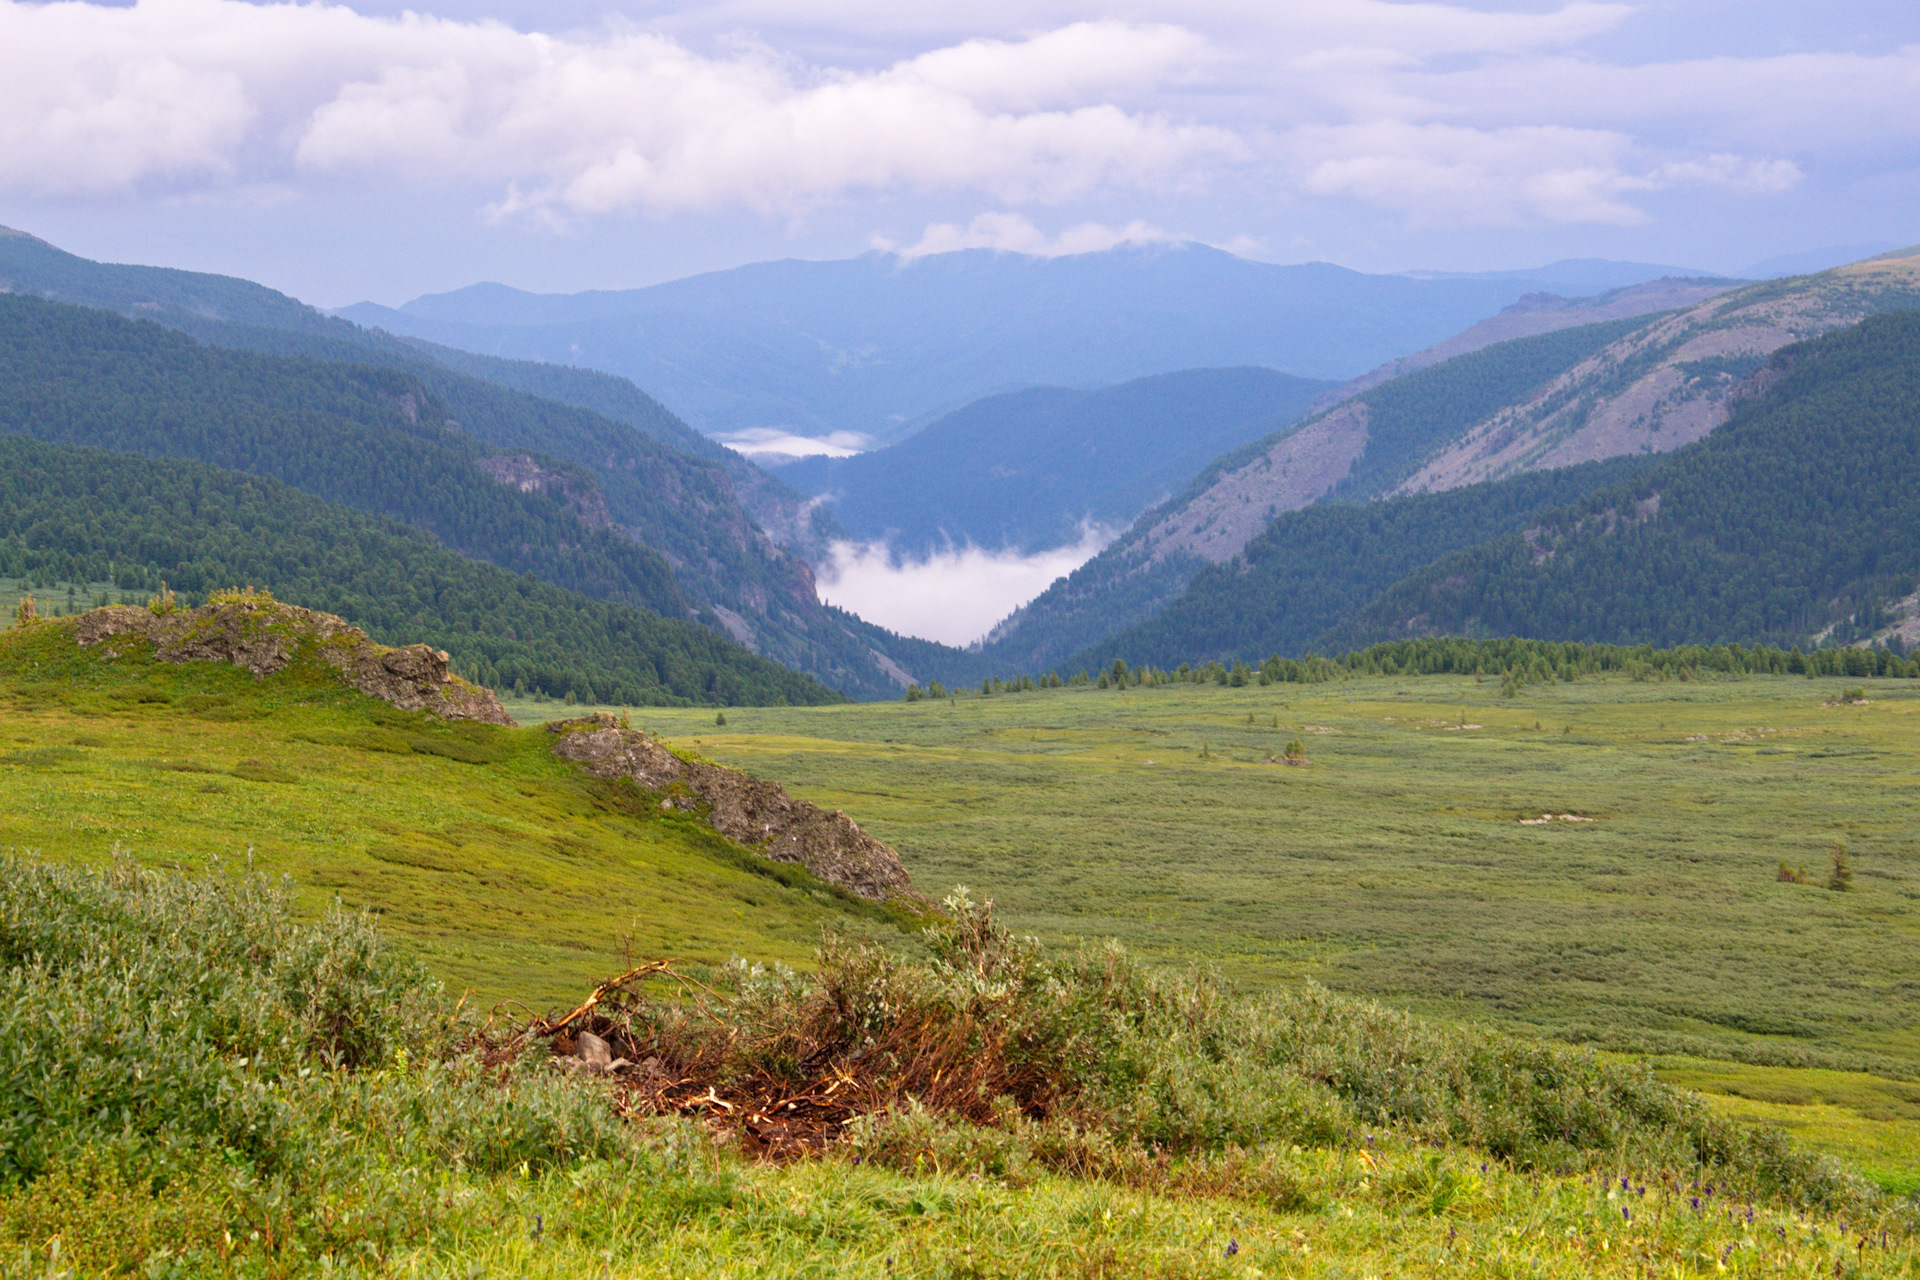
<svg viewBox="0 0 1920 1280"><path fill-rule="evenodd" d="M348 685L401 710L430 710L445 720L513 723L513 716L490 689L447 670L444 651L428 645L376 645L344 618L265 597L169 614L109 604L73 622L73 639L83 649L119 635L152 641L154 656L161 662L230 662L252 672L253 679L282 670L301 645L313 643L321 660L340 672Z"/></svg>

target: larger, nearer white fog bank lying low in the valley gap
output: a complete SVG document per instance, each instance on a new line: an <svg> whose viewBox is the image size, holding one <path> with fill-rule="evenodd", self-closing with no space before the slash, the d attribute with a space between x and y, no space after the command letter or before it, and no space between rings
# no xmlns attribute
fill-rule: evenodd
<svg viewBox="0 0 1920 1280"><path fill-rule="evenodd" d="M818 566L820 599L889 631L972 645L1056 578L1100 555L1116 530L1087 528L1071 547L1035 555L960 547L897 560L885 543L833 543Z"/></svg>

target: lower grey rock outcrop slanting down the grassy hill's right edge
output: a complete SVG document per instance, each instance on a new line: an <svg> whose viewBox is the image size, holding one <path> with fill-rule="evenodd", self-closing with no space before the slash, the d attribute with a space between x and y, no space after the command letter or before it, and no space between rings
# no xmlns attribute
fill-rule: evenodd
<svg viewBox="0 0 1920 1280"><path fill-rule="evenodd" d="M595 777L626 777L666 793L662 806L707 810L714 831L776 862L793 862L862 898L918 898L900 856L841 814L795 800L780 785L705 760L682 760L607 714L561 720L553 754Z"/></svg>

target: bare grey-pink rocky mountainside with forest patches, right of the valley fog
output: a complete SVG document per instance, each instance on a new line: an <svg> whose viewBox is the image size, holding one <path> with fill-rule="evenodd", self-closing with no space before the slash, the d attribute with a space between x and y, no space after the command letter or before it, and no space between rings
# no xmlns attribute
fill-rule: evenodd
<svg viewBox="0 0 1920 1280"><path fill-rule="evenodd" d="M1653 311L1663 301L1686 305ZM1240 555L1271 516L1315 501L1444 491L1674 449L1724 420L1734 382L1766 353L1905 307L1920 307L1920 255L1907 251L1736 288L1661 282L1572 309L1611 320L1509 338L1373 386L1361 380L1352 399L1217 459L1187 493L1002 622L985 656L1006 670L1064 662L1179 599L1194 574ZM1524 319L1509 313L1475 328L1494 336L1496 322L1515 315ZM1565 319L1565 309L1555 303L1544 315ZM1467 342L1463 334L1440 347ZM1380 397L1402 403L1398 443L1384 453Z"/></svg>

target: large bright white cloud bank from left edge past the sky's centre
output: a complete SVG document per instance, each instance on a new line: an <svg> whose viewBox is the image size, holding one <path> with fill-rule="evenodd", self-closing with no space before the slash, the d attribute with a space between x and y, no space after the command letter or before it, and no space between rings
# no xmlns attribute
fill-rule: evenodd
<svg viewBox="0 0 1920 1280"><path fill-rule="evenodd" d="M889 188L1066 200L1244 154L1231 129L1106 100L1187 75L1200 50L1177 27L1073 23L847 73L628 27L0 0L0 188L482 182L507 192L503 215L781 211Z"/></svg>

